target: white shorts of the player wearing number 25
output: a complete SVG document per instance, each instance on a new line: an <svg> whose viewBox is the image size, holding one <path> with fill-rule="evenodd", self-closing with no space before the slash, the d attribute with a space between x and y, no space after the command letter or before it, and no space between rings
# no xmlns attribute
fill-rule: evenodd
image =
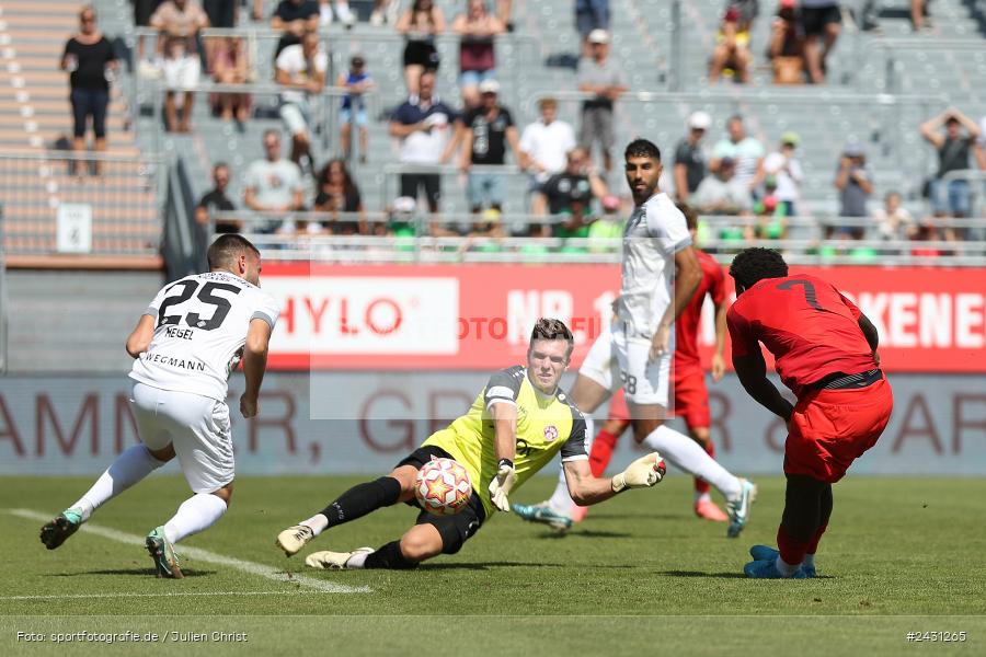
<svg viewBox="0 0 986 657"><path fill-rule="evenodd" d="M226 402L134 383L130 407L140 440L148 448L159 450L174 446L192 491L213 493L233 480Z"/></svg>

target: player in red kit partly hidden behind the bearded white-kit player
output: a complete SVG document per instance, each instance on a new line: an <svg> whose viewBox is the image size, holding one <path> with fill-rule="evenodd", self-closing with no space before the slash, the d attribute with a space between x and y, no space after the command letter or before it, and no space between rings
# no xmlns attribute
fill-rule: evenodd
<svg viewBox="0 0 986 657"><path fill-rule="evenodd" d="M685 204L677 204L678 209L685 215L688 231L691 239L696 239L698 230L698 215ZM715 443L709 433L711 416L709 414L709 391L706 389L706 373L702 370L698 351L698 324L702 314L702 306L706 295L712 298L715 307L715 353L712 356L712 381L719 382L725 373L725 315L727 310L725 275L715 258L695 250L702 269L702 280L699 283L691 302L681 311L675 320L675 358L672 371L675 393L675 414L685 418L688 435L692 440L702 446L710 457L715 458ZM596 434L589 453L589 465L593 472L605 472L612 458L617 440L630 426L630 411L622 391L614 395L609 404L609 417L606 424ZM709 496L709 483L699 477L695 479L695 515L707 520L725 522L729 520L719 506ZM588 509L575 507L572 510L574 521L582 520Z"/></svg>

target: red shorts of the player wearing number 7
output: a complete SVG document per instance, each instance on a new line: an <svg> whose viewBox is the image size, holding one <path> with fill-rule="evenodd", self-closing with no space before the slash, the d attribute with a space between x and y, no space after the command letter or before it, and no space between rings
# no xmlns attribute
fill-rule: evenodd
<svg viewBox="0 0 986 657"><path fill-rule="evenodd" d="M867 388L809 392L798 400L788 423L784 474L836 483L876 443L893 407L885 377Z"/></svg>

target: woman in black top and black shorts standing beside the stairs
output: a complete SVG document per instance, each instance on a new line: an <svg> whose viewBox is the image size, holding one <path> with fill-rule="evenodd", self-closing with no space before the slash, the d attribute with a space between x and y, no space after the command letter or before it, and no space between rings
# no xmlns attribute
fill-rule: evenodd
<svg viewBox="0 0 986 657"><path fill-rule="evenodd" d="M61 70L69 72L72 103L72 150L81 154L85 150L85 124L92 117L95 137L93 150L106 150L106 107L110 105L110 80L117 68L113 46L96 25L95 10L87 4L79 12L79 32L65 43ZM71 173L81 174L76 160L70 161ZM93 175L100 175L102 163L90 164Z"/></svg>

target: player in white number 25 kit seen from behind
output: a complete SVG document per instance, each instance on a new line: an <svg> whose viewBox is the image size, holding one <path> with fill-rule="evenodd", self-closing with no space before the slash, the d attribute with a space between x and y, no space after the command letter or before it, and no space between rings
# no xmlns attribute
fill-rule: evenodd
<svg viewBox="0 0 986 657"><path fill-rule="evenodd" d="M127 338L135 359L130 407L141 443L122 452L76 504L42 527L48 550L174 457L195 495L147 537L158 577L182 577L174 543L226 512L233 481L227 381L242 358L246 390L240 413L256 415L279 306L261 291L260 252L244 238L221 235L209 247L208 261L207 274L161 289Z"/></svg>

